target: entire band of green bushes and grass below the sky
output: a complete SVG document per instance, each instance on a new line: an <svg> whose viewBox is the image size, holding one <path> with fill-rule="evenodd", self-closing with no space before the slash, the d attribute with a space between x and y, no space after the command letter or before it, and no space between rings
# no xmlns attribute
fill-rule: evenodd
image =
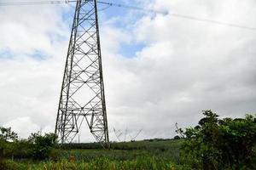
<svg viewBox="0 0 256 170"><path fill-rule="evenodd" d="M55 135L32 133L18 139L1 127L0 169L256 169L256 116L220 119L204 111L196 127L177 127L174 139L112 143L55 144Z"/></svg>

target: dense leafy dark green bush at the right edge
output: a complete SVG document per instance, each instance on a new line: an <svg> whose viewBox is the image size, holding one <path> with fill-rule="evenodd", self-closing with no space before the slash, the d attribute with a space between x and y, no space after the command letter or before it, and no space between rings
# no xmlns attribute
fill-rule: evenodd
<svg viewBox="0 0 256 170"><path fill-rule="evenodd" d="M219 119L212 111L203 115L198 126L183 133L183 161L194 169L256 169L256 117Z"/></svg>

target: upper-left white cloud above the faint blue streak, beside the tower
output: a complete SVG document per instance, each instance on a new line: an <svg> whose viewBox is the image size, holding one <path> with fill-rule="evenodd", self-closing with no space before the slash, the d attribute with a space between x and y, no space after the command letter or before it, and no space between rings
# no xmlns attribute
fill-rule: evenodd
<svg viewBox="0 0 256 170"><path fill-rule="evenodd" d="M40 51L54 54L58 38L67 38L67 23L61 14L68 8L55 6L1 7L0 49L15 54Z"/></svg>

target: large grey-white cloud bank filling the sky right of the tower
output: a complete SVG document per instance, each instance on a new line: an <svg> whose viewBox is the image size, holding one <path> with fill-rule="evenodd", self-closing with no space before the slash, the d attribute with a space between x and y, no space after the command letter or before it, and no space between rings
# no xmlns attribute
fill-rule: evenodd
<svg viewBox="0 0 256 170"><path fill-rule="evenodd" d="M255 2L240 3L159 0L153 6L255 27ZM184 20L171 13L143 17L132 36L148 44L137 58L106 61L118 71L107 72L116 80L108 82L115 94L107 95L114 96L109 103L115 106L109 110L115 127L125 129L128 123L131 128L145 127L145 134L158 131L146 136L170 136L175 122L193 125L202 110L221 116L255 112L255 31Z"/></svg>

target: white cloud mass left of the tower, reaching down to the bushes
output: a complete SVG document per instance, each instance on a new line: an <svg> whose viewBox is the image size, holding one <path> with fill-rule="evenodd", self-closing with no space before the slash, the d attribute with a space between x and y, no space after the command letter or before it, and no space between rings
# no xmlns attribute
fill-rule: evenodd
<svg viewBox="0 0 256 170"><path fill-rule="evenodd" d="M63 49L68 43L68 25L61 17L68 9L35 6L0 10L0 123L18 122L22 137L32 133L33 127L55 126L58 82L64 68L61 63L67 54ZM26 117L30 127L17 117Z"/></svg>

